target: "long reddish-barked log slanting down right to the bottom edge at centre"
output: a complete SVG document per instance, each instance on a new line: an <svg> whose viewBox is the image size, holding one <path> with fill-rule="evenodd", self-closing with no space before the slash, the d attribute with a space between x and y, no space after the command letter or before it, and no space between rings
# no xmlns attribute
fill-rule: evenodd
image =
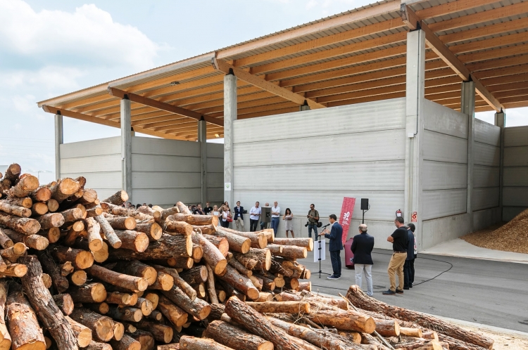
<svg viewBox="0 0 528 350"><path fill-rule="evenodd" d="M275 327L265 316L260 315L260 313L236 298L230 298L227 301L225 304L225 313L237 323L244 325L244 328L251 333L272 342L274 349L306 349L304 346L294 342L294 338L288 335L287 332Z"/></svg>

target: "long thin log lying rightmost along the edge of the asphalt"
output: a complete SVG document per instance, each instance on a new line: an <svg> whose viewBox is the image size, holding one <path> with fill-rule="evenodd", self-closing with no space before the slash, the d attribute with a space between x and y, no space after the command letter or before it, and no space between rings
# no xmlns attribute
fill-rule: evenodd
<svg viewBox="0 0 528 350"><path fill-rule="evenodd" d="M444 335L462 340L463 342L482 346L484 349L491 349L494 344L493 339L490 339L489 337L480 335L477 332L464 330L457 325L447 323L446 321L434 316L429 316L425 313L420 313L417 311L410 311L398 306L389 306L384 302L379 302L374 298L368 297L367 294L360 290L357 285L351 285L348 288L346 297L352 302L352 304L360 307L360 309L384 313L387 316L394 317L399 320L414 322L417 325L421 325L425 328L433 328L433 330L436 330L439 333L441 332Z"/></svg>

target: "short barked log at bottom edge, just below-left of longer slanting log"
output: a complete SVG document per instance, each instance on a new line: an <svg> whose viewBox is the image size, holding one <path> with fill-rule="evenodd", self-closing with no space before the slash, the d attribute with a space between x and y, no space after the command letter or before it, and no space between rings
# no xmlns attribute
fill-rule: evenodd
<svg viewBox="0 0 528 350"><path fill-rule="evenodd" d="M229 345L235 350L272 350L272 342L268 342L257 335L241 330L240 328L215 320L207 326L203 337L214 339L220 344Z"/></svg>

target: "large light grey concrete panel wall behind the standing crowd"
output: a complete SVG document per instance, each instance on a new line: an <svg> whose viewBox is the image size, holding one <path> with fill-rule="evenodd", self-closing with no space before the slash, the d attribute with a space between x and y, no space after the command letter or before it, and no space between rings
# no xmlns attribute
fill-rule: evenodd
<svg viewBox="0 0 528 350"><path fill-rule="evenodd" d="M293 212L296 237L306 237L310 203L327 222L329 214L339 216L344 196L356 197L352 236L360 199L369 198L369 233L377 247L391 247L386 237L404 204L405 108L405 98L397 98L236 120L234 201L249 211L256 201L277 200L281 214ZM284 235L281 220L277 236Z"/></svg>

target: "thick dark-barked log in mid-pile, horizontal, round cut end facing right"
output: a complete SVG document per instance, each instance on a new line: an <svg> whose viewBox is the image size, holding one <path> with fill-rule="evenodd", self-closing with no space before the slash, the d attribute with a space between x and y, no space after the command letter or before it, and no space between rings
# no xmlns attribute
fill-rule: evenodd
<svg viewBox="0 0 528 350"><path fill-rule="evenodd" d="M134 252L130 249L115 249L111 252L111 258L118 260L155 260L170 259L172 257L191 257L191 254L191 236L168 235L163 233L161 238L155 242L151 242L144 252Z"/></svg>

